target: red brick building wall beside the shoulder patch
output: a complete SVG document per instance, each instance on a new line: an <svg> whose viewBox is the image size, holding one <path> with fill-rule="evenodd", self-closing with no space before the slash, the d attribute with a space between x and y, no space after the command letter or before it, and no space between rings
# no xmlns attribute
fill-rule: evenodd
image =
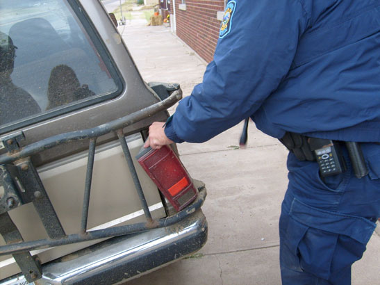
<svg viewBox="0 0 380 285"><path fill-rule="evenodd" d="M176 34L208 63L219 36L217 11L224 10L224 0L186 0L186 10L180 10L176 0Z"/></svg>

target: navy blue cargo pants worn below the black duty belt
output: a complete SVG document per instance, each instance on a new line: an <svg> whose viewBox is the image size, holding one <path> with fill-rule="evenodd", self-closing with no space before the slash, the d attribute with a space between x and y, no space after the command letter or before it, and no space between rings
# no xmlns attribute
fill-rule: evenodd
<svg viewBox="0 0 380 285"><path fill-rule="evenodd" d="M289 185L280 218L283 285L348 285L380 216L380 145L362 144L370 173L320 177L316 162L288 156Z"/></svg>

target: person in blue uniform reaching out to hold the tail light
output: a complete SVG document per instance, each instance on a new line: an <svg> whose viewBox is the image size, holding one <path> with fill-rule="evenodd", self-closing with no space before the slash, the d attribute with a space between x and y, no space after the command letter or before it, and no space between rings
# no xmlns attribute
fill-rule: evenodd
<svg viewBox="0 0 380 285"><path fill-rule="evenodd" d="M283 284L351 284L380 216L380 0L229 1L203 83L145 146L204 142L246 117L342 145L347 170L327 177L290 152L280 264ZM360 179L344 142L359 142Z"/></svg>

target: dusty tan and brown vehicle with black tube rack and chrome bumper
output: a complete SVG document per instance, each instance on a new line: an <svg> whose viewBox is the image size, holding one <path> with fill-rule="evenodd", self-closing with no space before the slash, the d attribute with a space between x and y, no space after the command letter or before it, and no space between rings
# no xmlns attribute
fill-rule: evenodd
<svg viewBox="0 0 380 285"><path fill-rule="evenodd" d="M116 284L199 250L204 185L176 212L135 160L179 86L142 80L97 1L0 14L0 284Z"/></svg>

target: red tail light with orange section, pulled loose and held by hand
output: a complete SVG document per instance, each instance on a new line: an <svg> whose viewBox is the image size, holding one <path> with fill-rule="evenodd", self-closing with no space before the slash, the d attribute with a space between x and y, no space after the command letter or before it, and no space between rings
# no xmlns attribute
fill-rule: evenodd
<svg viewBox="0 0 380 285"><path fill-rule="evenodd" d="M168 146L143 149L136 158L176 211L188 206L197 190L179 158Z"/></svg>

